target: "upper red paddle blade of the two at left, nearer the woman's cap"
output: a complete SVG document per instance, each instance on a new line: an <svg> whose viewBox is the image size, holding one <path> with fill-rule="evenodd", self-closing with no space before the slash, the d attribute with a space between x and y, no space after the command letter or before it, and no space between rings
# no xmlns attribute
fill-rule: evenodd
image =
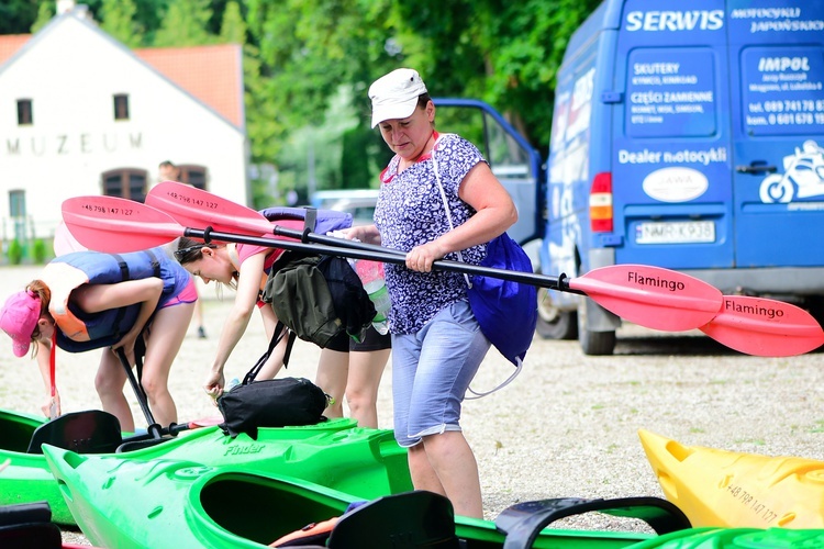
<svg viewBox="0 0 824 549"><path fill-rule="evenodd" d="M252 236L272 233L269 220L255 210L177 181L164 181L153 187L146 195L146 204L191 228L211 226L221 233Z"/></svg>

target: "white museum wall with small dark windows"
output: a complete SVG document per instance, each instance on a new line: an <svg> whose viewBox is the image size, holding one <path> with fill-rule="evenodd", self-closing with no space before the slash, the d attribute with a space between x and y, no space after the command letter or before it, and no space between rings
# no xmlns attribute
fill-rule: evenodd
<svg viewBox="0 0 824 549"><path fill-rule="evenodd" d="M112 96L127 93L130 120L114 121ZM31 99L34 124L19 126L16 100ZM51 236L60 204L101 193L101 173L157 165L207 167L208 189L247 203L247 147L241 128L73 14L52 21L0 68L0 219L9 190L25 189L37 236ZM44 231L47 234L40 234Z"/></svg>

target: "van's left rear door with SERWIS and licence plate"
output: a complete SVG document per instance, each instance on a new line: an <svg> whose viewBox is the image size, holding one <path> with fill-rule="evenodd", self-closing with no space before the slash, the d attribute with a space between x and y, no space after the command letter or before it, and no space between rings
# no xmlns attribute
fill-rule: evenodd
<svg viewBox="0 0 824 549"><path fill-rule="evenodd" d="M612 202L617 264L735 262L724 0L626 0L615 53ZM619 93L623 92L623 94Z"/></svg>

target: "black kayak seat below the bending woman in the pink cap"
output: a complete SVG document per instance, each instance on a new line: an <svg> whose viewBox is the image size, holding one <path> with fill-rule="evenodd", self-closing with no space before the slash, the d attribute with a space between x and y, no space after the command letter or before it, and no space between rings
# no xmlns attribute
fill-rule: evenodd
<svg viewBox="0 0 824 549"><path fill-rule="evenodd" d="M102 410L87 410L62 415L34 429L26 453L43 453L43 444L77 453L111 453L122 441L116 417Z"/></svg>

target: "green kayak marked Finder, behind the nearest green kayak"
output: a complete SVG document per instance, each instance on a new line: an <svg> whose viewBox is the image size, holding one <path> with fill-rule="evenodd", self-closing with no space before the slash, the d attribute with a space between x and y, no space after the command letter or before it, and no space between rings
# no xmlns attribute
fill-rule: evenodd
<svg viewBox="0 0 824 549"><path fill-rule="evenodd" d="M0 463L9 461L0 474L0 505L46 501L55 523L74 525L45 458L27 452L35 429L45 423L38 417L0 410L4 440ZM411 489L407 452L394 442L392 432L360 428L348 418L302 427L260 428L257 440L244 434L232 439L219 427L201 427L162 444L143 446L143 441L127 441L119 447L127 451L104 455L121 461L168 457L209 466L231 463L248 470L278 471L366 498Z"/></svg>

